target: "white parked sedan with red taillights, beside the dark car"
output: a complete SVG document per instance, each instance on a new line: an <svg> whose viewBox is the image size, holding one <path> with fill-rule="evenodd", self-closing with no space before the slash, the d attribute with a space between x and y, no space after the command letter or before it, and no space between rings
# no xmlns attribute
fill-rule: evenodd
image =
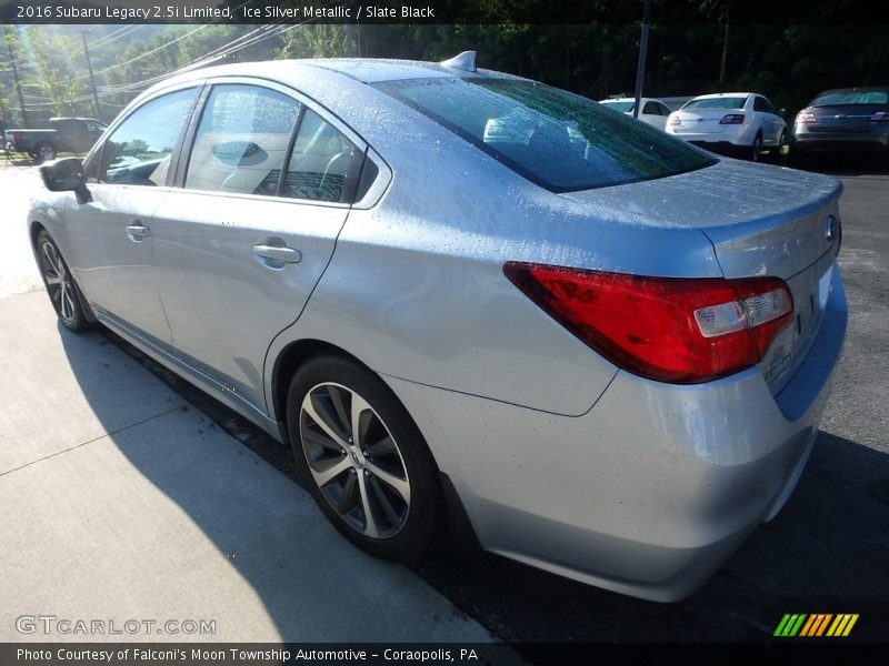
<svg viewBox="0 0 889 666"><path fill-rule="evenodd" d="M696 97L670 113L667 133L713 152L758 162L787 144L787 123L761 94L719 92Z"/></svg>

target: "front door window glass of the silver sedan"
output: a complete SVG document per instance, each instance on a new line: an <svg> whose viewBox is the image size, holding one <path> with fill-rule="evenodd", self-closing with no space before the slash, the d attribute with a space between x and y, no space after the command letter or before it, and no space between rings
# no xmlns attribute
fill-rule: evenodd
<svg viewBox="0 0 889 666"><path fill-rule="evenodd" d="M171 92L131 113L102 147L99 181L164 185L173 148L191 115L194 95L196 89Z"/></svg>

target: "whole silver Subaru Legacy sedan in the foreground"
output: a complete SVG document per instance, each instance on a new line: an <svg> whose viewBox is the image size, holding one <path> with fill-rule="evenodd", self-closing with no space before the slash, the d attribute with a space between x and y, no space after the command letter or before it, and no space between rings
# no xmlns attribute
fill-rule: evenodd
<svg viewBox="0 0 889 666"><path fill-rule="evenodd" d="M846 327L837 181L443 63L184 73L28 216L96 321L292 446L359 547L672 601L782 506Z"/></svg>

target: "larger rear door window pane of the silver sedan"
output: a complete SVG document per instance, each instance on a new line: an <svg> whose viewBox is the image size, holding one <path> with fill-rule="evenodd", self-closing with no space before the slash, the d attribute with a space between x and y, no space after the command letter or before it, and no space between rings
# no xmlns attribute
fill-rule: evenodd
<svg viewBox="0 0 889 666"><path fill-rule="evenodd" d="M194 137L186 188L276 195L299 110L297 100L268 88L214 87Z"/></svg>

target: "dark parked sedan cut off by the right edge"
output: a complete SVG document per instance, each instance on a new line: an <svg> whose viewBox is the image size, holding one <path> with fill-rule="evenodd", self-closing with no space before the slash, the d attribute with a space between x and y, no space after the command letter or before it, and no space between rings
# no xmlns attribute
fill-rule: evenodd
<svg viewBox="0 0 889 666"><path fill-rule="evenodd" d="M889 88L841 88L819 93L797 113L790 157L889 152Z"/></svg>

